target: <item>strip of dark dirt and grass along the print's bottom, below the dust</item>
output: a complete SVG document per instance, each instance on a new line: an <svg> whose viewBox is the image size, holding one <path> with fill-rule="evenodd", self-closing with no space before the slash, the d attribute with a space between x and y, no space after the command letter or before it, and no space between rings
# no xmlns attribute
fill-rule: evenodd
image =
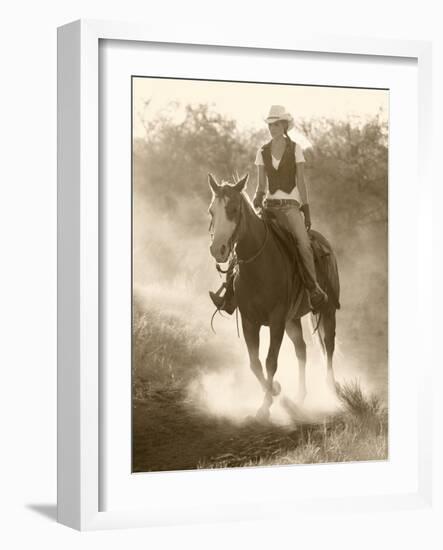
<svg viewBox="0 0 443 550"><path fill-rule="evenodd" d="M367 405L318 424L234 423L208 415L183 390L151 391L134 400L133 471L386 459L387 417Z"/></svg>

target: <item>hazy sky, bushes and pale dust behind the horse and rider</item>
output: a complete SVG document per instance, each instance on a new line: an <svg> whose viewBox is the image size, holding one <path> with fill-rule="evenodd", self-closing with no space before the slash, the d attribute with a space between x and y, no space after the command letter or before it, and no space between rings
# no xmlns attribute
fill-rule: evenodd
<svg viewBox="0 0 443 550"><path fill-rule="evenodd" d="M216 334L210 329L208 290L220 277L209 253L207 174L232 180L249 172L247 192L254 193L255 154L269 139L263 118L274 103L295 117L290 135L305 148L313 227L338 258L337 378L358 379L387 397L388 92L135 78L135 400L169 388L213 417L241 419L257 409L260 388L235 315L217 316ZM306 407L327 410L334 404L324 360L304 326ZM264 358L267 329L261 336ZM297 363L286 338L276 378L294 398ZM287 420L279 403L273 416Z"/></svg>

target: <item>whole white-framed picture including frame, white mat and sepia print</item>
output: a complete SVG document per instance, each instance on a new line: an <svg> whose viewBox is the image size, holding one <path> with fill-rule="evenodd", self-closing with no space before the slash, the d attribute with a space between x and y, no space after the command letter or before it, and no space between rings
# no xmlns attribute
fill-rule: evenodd
<svg viewBox="0 0 443 550"><path fill-rule="evenodd" d="M430 45L58 52L59 521L430 508Z"/></svg>

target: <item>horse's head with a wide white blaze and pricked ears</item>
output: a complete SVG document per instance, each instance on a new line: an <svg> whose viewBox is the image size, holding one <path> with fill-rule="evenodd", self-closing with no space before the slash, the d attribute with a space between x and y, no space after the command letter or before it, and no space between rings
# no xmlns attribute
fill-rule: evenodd
<svg viewBox="0 0 443 550"><path fill-rule="evenodd" d="M209 187L212 189L212 201L208 212L211 216L211 246L210 251L216 262L228 260L235 244L236 233L241 217L242 195L249 175L246 174L234 185L222 183L219 185L212 174L208 174Z"/></svg>

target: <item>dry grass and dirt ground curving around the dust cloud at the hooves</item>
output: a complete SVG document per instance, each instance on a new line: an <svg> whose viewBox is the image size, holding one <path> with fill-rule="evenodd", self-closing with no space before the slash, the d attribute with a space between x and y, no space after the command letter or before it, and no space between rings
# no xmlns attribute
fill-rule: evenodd
<svg viewBox="0 0 443 550"><path fill-rule="evenodd" d="M341 409L334 416L320 424L294 422L289 431L222 422L184 401L189 382L225 368L230 353L187 317L154 306L142 310L134 300L136 471L387 459L387 409L355 381L337 385Z"/></svg>

